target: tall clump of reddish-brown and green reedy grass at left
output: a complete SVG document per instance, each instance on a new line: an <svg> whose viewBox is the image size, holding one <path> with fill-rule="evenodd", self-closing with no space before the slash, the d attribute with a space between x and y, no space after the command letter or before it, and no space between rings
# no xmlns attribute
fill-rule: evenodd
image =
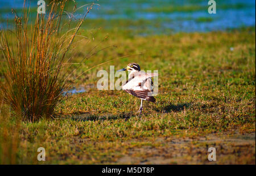
<svg viewBox="0 0 256 176"><path fill-rule="evenodd" d="M86 14L76 20L65 18L68 1L52 1L46 14L30 19L24 2L21 16L15 14L14 29L1 29L0 51L4 82L0 89L6 104L23 120L36 121L52 116L70 75L64 62ZM75 6L76 7L76 6ZM75 8L74 8L75 9Z"/></svg>

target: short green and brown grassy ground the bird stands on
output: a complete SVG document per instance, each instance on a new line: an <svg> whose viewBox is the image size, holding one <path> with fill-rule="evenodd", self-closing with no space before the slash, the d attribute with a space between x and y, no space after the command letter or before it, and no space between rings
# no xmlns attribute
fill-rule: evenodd
<svg viewBox="0 0 256 176"><path fill-rule="evenodd" d="M117 48L95 54L75 77L104 61L142 54L80 76L73 85L88 87L86 92L61 100L55 119L22 122L19 158L44 147L46 161L32 160L36 164L255 164L255 28L146 37L115 28L81 34L94 38L93 48L106 33L100 46ZM90 47L72 49L73 62ZM159 70L156 104L146 102L141 116L135 114L137 98L93 87L98 70L130 62ZM217 148L214 163L207 160L209 147Z"/></svg>

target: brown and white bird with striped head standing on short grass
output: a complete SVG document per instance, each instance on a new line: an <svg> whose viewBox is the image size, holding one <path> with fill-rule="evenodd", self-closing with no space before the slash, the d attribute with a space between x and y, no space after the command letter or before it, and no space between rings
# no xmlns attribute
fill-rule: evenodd
<svg viewBox="0 0 256 176"><path fill-rule="evenodd" d="M141 71L141 67L137 63L129 63L127 67L118 71L129 71L128 80L122 85L122 89L135 97L141 98L141 106L137 113L142 113L143 100L155 102L153 94L153 76L158 76L156 73L146 73Z"/></svg>

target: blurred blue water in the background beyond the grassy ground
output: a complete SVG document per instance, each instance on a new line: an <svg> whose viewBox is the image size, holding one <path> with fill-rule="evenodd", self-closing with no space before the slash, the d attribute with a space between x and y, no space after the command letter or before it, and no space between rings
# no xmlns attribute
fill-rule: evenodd
<svg viewBox="0 0 256 176"><path fill-rule="evenodd" d="M36 7L36 2L32 1L31 6ZM153 33L162 33L166 30L174 32L208 32L255 26L255 1L252 0L216 0L216 14L208 14L207 0L77 0L77 6L91 2L98 3L100 6L94 6L93 10L88 14L88 18L106 20L146 19L151 23L148 24L147 28ZM1 0L0 10L5 9L3 12L0 11L1 18L11 18L11 14L7 13L6 9L22 8L22 6L23 0ZM148 12L149 8L168 6L200 6L205 9L198 11ZM85 12L86 7L82 8L82 10ZM202 18L210 20L200 21L199 19ZM152 24L155 22L160 23L160 25L154 27ZM136 29L138 27L130 26L129 28Z"/></svg>

